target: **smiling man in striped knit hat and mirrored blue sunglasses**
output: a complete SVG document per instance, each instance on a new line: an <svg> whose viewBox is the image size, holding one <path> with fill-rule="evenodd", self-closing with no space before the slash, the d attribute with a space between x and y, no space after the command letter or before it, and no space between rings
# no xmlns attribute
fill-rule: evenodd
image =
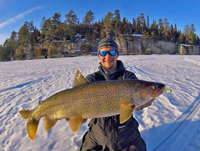
<svg viewBox="0 0 200 151"><path fill-rule="evenodd" d="M123 63L117 60L118 45L111 38L104 38L99 42L98 57L99 71L86 77L89 82L137 79L134 73L127 71ZM152 101L138 107L147 107ZM85 121L84 121L85 122ZM138 131L138 122L131 117L120 124L119 115L95 118L89 123L89 130L83 137L81 151L145 151L146 144Z"/></svg>

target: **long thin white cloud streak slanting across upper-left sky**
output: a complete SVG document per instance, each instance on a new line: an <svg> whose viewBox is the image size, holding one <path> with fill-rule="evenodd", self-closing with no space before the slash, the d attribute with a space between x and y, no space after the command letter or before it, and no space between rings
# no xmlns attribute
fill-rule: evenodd
<svg viewBox="0 0 200 151"><path fill-rule="evenodd" d="M11 19L9 19L9 20L3 22L3 23L0 23L0 29L6 27L7 25L10 25L10 24L13 24L13 23L17 22L18 20L23 19L25 16L27 16L27 15L30 14L31 12L33 12L33 11L35 11L35 10L38 10L38 9L42 9L42 8L44 8L44 7L35 7L35 8L32 8L32 9L30 9L30 10L28 10L28 11L25 11L25 12L23 12L23 13L17 15L17 16L14 17L14 18L11 18Z"/></svg>

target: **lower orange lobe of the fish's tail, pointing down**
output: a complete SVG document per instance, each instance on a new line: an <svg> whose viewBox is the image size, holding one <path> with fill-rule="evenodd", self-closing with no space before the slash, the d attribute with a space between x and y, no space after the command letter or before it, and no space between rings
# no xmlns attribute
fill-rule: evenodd
<svg viewBox="0 0 200 151"><path fill-rule="evenodd" d="M33 118L28 118L26 129L28 132L28 136L30 137L31 140L34 140L34 138L35 138L38 123L39 123L39 121L37 121Z"/></svg>

